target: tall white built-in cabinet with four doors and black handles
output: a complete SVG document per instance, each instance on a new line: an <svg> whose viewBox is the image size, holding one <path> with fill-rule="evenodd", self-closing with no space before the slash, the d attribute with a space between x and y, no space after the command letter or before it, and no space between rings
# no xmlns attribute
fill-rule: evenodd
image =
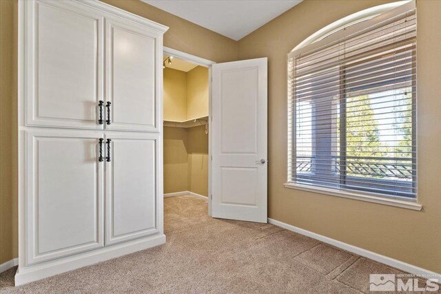
<svg viewBox="0 0 441 294"><path fill-rule="evenodd" d="M165 242L166 30L99 1L19 1L17 285Z"/></svg>

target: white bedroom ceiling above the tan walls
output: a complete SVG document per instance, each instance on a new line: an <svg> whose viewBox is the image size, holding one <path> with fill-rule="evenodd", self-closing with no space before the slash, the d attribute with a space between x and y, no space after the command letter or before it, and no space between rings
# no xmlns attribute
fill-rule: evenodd
<svg viewBox="0 0 441 294"><path fill-rule="evenodd" d="M141 0L238 41L302 0Z"/></svg>

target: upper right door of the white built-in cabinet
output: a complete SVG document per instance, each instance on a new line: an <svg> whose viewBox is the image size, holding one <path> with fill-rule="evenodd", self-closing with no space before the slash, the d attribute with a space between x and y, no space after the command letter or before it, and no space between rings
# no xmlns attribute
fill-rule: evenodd
<svg viewBox="0 0 441 294"><path fill-rule="evenodd" d="M158 132L161 58L162 34L106 19L106 129Z"/></svg>

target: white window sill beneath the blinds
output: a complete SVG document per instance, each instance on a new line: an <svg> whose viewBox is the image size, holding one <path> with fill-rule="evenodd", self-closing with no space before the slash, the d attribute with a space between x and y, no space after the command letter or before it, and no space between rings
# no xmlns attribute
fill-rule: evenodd
<svg viewBox="0 0 441 294"><path fill-rule="evenodd" d="M369 196L369 195L365 195L362 193L354 193L354 192L348 192L348 191L336 191L334 189L327 189L327 188L322 188L322 187L309 187L307 185L296 184L293 182L283 184L283 186L285 186L285 188L289 188L289 189L310 191L310 192L326 194L326 195L330 195L330 196L338 196L338 197L342 197L342 198L349 198L349 199L373 202L373 203L378 203L378 204L391 205L394 207L401 207L401 208L405 208L405 209L413 209L413 210L421 210L422 209L421 204L418 204L416 202L411 202L411 201L405 201L405 200L382 198L382 197L378 197L378 196Z"/></svg>

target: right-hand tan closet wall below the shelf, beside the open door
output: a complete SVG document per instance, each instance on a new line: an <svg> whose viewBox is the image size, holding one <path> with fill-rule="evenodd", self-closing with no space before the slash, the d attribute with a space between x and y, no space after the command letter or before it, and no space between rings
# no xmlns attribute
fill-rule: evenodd
<svg viewBox="0 0 441 294"><path fill-rule="evenodd" d="M208 196L208 135L205 126L190 127L188 133L188 191Z"/></svg>

